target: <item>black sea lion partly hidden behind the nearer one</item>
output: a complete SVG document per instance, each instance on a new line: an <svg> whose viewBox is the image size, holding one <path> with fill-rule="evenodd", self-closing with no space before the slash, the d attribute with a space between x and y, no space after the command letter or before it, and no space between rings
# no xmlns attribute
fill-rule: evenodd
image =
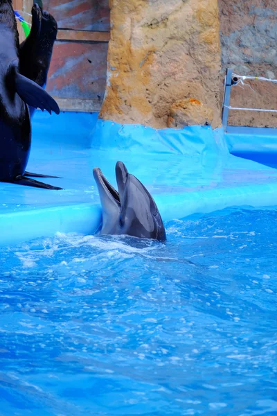
<svg viewBox="0 0 277 416"><path fill-rule="evenodd" d="M57 22L35 3L32 8L30 35L19 46L19 70L22 75L43 88L46 87L56 38ZM31 116L34 111L30 107Z"/></svg>

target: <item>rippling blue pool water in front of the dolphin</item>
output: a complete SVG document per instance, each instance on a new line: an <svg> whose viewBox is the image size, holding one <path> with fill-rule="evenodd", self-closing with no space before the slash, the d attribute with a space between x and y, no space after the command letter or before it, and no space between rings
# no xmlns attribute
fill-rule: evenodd
<svg viewBox="0 0 277 416"><path fill-rule="evenodd" d="M277 211L0 256L0 415L276 415Z"/></svg>

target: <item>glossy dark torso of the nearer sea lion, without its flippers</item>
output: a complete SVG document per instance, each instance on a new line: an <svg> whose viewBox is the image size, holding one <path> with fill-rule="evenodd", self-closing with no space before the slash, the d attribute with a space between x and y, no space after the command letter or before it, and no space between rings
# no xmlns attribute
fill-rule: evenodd
<svg viewBox="0 0 277 416"><path fill-rule="evenodd" d="M24 174L30 154L28 108L18 94L12 94L11 62L18 60L19 37L12 18L11 3L0 6L0 180Z"/></svg>

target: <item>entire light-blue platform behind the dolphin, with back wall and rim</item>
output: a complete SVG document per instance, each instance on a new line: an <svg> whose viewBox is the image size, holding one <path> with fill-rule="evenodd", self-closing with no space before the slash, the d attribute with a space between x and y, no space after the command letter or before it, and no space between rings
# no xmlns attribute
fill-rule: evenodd
<svg viewBox="0 0 277 416"><path fill-rule="evenodd" d="M48 191L0 183L0 245L57 232L93 234L101 220L92 169L114 185L117 160L150 190L163 220L226 207L277 205L274 129L195 125L154 129L98 119L98 114L35 112L28 171L61 176Z"/></svg>

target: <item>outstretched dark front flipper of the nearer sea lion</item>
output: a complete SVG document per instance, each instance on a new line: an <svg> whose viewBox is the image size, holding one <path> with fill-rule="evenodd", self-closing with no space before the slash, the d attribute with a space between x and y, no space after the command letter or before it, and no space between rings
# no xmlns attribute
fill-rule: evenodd
<svg viewBox="0 0 277 416"><path fill-rule="evenodd" d="M50 114L52 111L55 114L60 114L60 108L54 98L42 87L21 75L18 71L15 71L15 89L21 99L31 107L47 110Z"/></svg>

